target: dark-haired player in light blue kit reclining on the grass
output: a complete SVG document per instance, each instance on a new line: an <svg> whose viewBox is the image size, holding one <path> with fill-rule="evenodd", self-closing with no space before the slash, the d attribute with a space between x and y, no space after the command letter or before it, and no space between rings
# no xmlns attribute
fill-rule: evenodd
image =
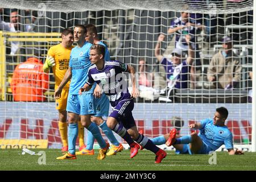
<svg viewBox="0 0 256 182"><path fill-rule="evenodd" d="M175 138L176 130L172 129L168 146L173 145L176 152L180 154L209 154L225 144L229 155L241 155L243 154L242 150L233 148L233 135L225 126L226 118L228 118L228 110L225 107L219 107L216 109L213 119L208 118L189 125L192 129L199 129L199 135L195 132Z"/></svg>

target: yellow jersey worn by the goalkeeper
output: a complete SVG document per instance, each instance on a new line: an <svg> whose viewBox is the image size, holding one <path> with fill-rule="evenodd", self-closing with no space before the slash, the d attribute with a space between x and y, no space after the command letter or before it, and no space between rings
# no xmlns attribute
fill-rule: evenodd
<svg viewBox="0 0 256 182"><path fill-rule="evenodd" d="M52 67L52 71L55 76L55 89L60 85L65 73L68 70L70 53L73 47L74 46L65 48L61 44L57 44L48 50L47 55L52 56L55 60L55 66ZM69 85L70 81L64 86L63 89L68 89Z"/></svg>

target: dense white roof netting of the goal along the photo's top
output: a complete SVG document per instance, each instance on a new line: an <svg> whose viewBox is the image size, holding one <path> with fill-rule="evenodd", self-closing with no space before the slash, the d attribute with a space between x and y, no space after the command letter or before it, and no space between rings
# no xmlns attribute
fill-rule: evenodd
<svg viewBox="0 0 256 182"><path fill-rule="evenodd" d="M229 2L229 1L228 1ZM232 1L230 1L232 2ZM220 0L179 0L179 1L131 1L131 0L97 0L97 1L8 1L2 0L0 6L6 8L33 9L42 11L99 11L99 10L159 10L159 11L189 11L193 13L237 13L252 10L253 0L233 1L227 3Z"/></svg>

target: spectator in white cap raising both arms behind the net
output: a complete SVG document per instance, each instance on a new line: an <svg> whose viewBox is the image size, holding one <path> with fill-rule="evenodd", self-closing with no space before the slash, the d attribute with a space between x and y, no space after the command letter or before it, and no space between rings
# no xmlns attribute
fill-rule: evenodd
<svg viewBox="0 0 256 182"><path fill-rule="evenodd" d="M185 40L189 45L188 57L186 60L181 61L181 49L175 48L171 55L172 59L168 59L163 55L160 55L160 43L164 40L164 35L160 34L158 37L158 43L155 46L155 56L161 64L163 64L164 69L167 73L167 87L169 89L187 89L189 87L189 73L191 73L191 81L195 83L195 67L193 64L193 50L189 43L191 39L189 35L185 36ZM194 84L192 84L192 88Z"/></svg>

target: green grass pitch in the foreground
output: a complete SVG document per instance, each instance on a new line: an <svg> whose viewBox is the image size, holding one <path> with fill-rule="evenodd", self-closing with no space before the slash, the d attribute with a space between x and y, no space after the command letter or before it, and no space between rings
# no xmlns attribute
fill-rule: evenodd
<svg viewBox="0 0 256 182"><path fill-rule="evenodd" d="M0 171L3 170L90 170L90 171L166 171L166 170L256 170L256 153L246 152L245 155L228 155L228 152L217 152L217 164L208 163L210 155L176 155L167 151L162 163L155 164L155 155L150 151L139 151L134 159L130 159L130 151L123 150L114 156L106 156L97 160L95 155L77 156L76 160L56 160L62 153L60 150L33 150L46 152L46 165L39 165L37 155L20 155L22 150L0 150Z"/></svg>

